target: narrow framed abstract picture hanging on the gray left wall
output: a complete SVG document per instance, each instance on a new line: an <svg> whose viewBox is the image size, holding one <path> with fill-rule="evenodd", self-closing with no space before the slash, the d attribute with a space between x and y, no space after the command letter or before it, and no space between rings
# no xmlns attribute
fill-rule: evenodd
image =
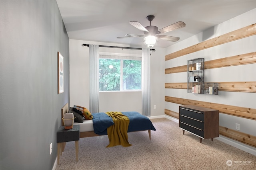
<svg viewBox="0 0 256 170"><path fill-rule="evenodd" d="M63 56L58 52L58 94L64 92L64 65Z"/></svg>

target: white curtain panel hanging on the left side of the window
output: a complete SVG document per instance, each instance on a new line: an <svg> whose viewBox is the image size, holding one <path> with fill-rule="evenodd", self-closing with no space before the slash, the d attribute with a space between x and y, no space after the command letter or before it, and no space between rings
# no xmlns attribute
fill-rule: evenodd
<svg viewBox="0 0 256 170"><path fill-rule="evenodd" d="M99 112L99 45L89 45L90 100L91 113Z"/></svg>

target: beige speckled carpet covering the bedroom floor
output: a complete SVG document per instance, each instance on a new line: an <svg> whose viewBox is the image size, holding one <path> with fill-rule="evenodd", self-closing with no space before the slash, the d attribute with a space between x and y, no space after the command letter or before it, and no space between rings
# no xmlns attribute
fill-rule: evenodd
<svg viewBox="0 0 256 170"><path fill-rule="evenodd" d="M56 170L256 170L256 156L216 139L203 139L165 118L151 120L156 131L128 133L130 147L110 147L108 136L66 143Z"/></svg>

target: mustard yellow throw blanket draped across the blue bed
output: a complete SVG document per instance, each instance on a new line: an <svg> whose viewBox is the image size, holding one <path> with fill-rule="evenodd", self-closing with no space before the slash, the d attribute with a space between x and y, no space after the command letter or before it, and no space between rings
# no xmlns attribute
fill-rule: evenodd
<svg viewBox="0 0 256 170"><path fill-rule="evenodd" d="M123 115L121 112L106 112L107 115L112 117L114 125L108 127L108 139L109 145L106 147L114 147L116 145L122 145L123 147L130 147L128 142L128 126L130 123L129 118Z"/></svg>

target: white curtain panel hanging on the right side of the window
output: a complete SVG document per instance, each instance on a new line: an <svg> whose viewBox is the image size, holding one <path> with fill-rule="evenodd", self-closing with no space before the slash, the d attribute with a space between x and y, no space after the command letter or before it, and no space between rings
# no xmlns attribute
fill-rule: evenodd
<svg viewBox="0 0 256 170"><path fill-rule="evenodd" d="M150 49L142 49L141 65L142 115L150 116Z"/></svg>

